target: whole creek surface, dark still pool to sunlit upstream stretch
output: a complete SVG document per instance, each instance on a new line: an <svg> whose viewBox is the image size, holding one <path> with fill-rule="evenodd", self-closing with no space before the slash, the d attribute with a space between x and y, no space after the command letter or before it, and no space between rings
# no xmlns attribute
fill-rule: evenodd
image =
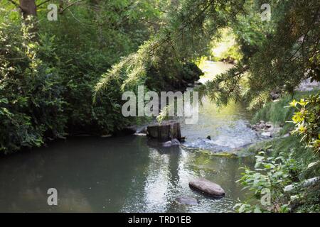
<svg viewBox="0 0 320 227"><path fill-rule="evenodd" d="M203 78L230 65L208 62ZM224 68L221 68L224 67ZM70 138L46 148L0 159L1 212L229 212L245 191L235 181L240 167L251 157L216 157L257 136L247 128L250 114L240 105L218 110L206 101L197 125L182 125L186 143L161 148L143 136ZM211 140L207 140L210 135ZM223 199L212 199L188 187L205 177L225 189ZM48 206L47 190L58 190L58 206ZM198 205L176 202L179 197L198 199Z"/></svg>

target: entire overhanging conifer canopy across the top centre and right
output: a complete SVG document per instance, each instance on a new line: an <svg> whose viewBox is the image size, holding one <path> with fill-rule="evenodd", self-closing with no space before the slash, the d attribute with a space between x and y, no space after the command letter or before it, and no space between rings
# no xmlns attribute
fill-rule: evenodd
<svg viewBox="0 0 320 227"><path fill-rule="evenodd" d="M143 82L146 70L159 64L161 56L183 61L203 55L210 40L220 35L219 28L225 27L233 29L244 57L200 89L217 104L247 100L255 102L255 108L274 89L293 92L303 79L320 80L319 1L270 1L271 21L261 20L262 3L174 1L159 33L104 74L95 93L103 91L114 78L120 79L123 87Z"/></svg>

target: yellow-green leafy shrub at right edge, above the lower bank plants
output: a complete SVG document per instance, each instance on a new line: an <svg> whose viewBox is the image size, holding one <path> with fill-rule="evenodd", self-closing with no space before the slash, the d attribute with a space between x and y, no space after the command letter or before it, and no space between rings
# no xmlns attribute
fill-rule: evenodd
<svg viewBox="0 0 320 227"><path fill-rule="evenodd" d="M292 116L293 133L302 135L302 140L315 153L320 152L320 93L300 101L293 100L290 106L297 111Z"/></svg>

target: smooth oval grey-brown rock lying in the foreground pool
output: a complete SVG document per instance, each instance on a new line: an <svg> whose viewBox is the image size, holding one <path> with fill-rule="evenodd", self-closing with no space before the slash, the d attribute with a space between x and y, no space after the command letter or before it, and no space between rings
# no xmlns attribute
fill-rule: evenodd
<svg viewBox="0 0 320 227"><path fill-rule="evenodd" d="M204 194L208 194L210 196L221 198L225 196L225 191L220 185L210 182L208 179L198 178L189 182L189 186L192 189L196 189Z"/></svg>

